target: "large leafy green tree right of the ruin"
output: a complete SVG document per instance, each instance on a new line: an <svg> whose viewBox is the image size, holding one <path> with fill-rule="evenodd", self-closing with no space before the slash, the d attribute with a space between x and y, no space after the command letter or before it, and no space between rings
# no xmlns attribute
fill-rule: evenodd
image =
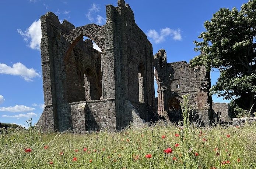
<svg viewBox="0 0 256 169"><path fill-rule="evenodd" d="M256 0L243 4L241 11L221 8L204 27L202 41L194 41L201 54L190 63L218 69L220 78L211 93L249 110L256 100Z"/></svg>

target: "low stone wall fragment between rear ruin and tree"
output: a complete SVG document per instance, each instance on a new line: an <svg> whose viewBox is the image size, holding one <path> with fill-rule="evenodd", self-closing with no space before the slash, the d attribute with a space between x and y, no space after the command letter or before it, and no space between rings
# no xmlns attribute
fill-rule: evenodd
<svg viewBox="0 0 256 169"><path fill-rule="evenodd" d="M228 103L213 103L213 119L215 123L231 122Z"/></svg>

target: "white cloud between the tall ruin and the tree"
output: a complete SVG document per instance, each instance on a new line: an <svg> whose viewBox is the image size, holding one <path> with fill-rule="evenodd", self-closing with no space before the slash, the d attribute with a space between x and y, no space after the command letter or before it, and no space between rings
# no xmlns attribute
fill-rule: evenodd
<svg viewBox="0 0 256 169"><path fill-rule="evenodd" d="M152 38L155 43L162 43L167 36L171 36L173 40L182 40L180 29L173 30L169 27L161 29L160 34L155 29L150 29L147 36Z"/></svg>

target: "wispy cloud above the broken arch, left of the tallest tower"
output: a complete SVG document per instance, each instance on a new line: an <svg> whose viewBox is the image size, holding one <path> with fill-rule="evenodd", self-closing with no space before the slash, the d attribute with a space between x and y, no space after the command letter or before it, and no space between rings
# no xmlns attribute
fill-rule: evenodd
<svg viewBox="0 0 256 169"><path fill-rule="evenodd" d="M89 19L89 21L94 22L96 20L96 23L98 25L101 25L102 23L106 23L106 19L102 17L101 15L95 16L96 13L98 13L100 10L100 7L98 4L93 3L91 5L91 8L88 10L86 14L86 18Z"/></svg>

